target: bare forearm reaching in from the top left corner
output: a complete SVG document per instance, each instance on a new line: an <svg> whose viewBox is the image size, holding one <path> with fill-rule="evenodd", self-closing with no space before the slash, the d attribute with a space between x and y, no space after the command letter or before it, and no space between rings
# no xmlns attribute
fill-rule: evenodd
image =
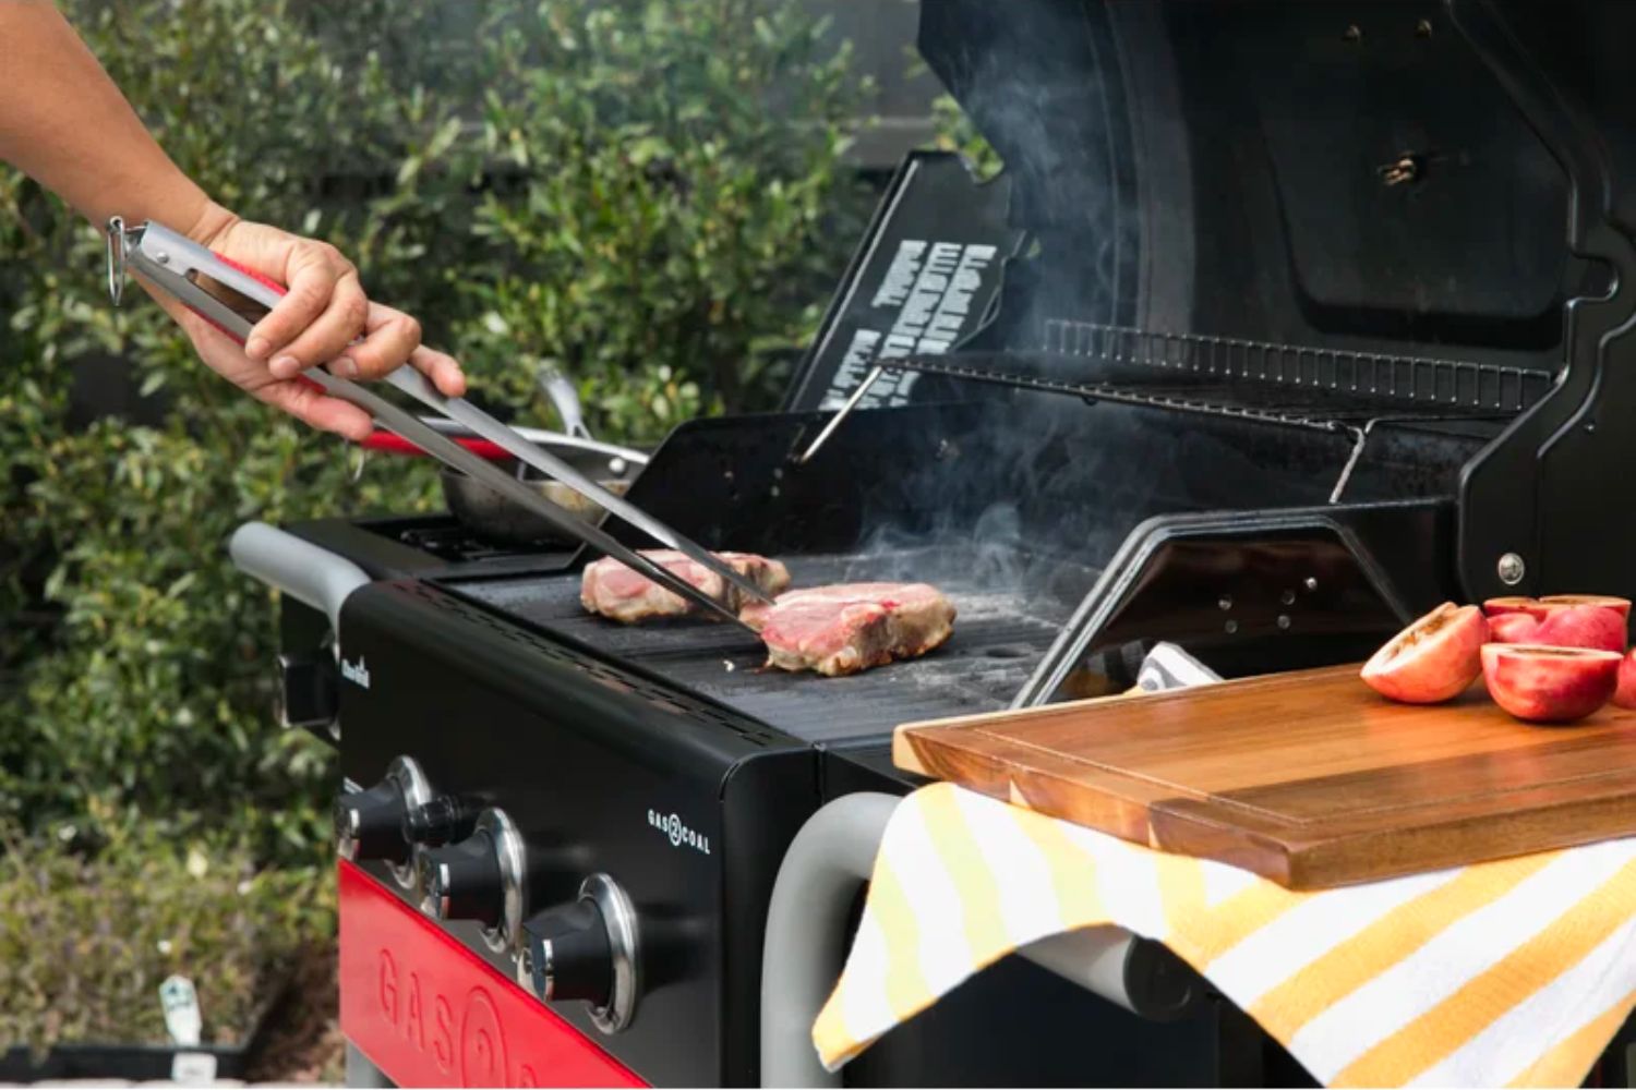
<svg viewBox="0 0 1636 1090"><path fill-rule="evenodd" d="M51 0L0 0L0 162L101 226L196 232L221 216L142 127Z"/></svg>

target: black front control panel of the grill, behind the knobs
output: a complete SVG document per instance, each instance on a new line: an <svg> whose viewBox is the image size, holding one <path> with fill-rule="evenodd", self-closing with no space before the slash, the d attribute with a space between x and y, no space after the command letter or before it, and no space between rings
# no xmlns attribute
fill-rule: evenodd
<svg viewBox="0 0 1636 1090"><path fill-rule="evenodd" d="M342 683L342 771L368 784L409 753L438 794L504 809L528 847L535 909L614 874L641 918L646 982L610 1051L666 1083L753 1080L756 1023L721 1012L757 1010L759 922L772 868L816 806L815 752L420 582L355 593L342 628L370 678ZM654 815L703 840L672 843ZM445 927L515 974L476 923ZM556 1010L602 1039L582 1003Z"/></svg>

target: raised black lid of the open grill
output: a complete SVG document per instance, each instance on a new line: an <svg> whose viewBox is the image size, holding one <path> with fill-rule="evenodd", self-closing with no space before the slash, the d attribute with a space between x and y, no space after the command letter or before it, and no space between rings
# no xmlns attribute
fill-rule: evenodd
<svg viewBox="0 0 1636 1090"><path fill-rule="evenodd" d="M1487 422L1466 595L1633 595L1636 510L1598 485L1636 456L1631 31L1590 0L923 5L1024 242L982 332L892 366Z"/></svg>

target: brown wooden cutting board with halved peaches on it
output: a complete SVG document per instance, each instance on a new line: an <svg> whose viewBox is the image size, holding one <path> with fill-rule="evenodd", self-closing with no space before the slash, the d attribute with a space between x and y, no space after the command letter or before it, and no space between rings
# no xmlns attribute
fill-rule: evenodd
<svg viewBox="0 0 1636 1090"><path fill-rule="evenodd" d="M893 760L1294 889L1636 835L1636 713L1392 704L1356 667L906 724Z"/></svg>

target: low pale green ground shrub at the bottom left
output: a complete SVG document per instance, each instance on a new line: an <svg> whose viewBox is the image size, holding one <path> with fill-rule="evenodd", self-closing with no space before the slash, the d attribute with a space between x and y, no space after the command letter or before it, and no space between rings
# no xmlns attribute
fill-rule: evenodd
<svg viewBox="0 0 1636 1090"><path fill-rule="evenodd" d="M334 927L319 871L262 871L227 838L177 847L119 830L93 851L74 827L0 829L0 1049L57 1041L164 1044L159 982L193 981L203 1039L237 1044L291 956Z"/></svg>

